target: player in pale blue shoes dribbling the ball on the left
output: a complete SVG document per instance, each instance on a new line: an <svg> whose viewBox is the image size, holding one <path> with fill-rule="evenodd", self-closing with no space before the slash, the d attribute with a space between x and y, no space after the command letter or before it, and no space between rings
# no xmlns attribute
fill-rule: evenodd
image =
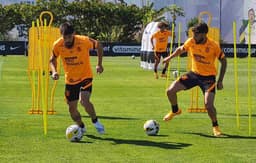
<svg viewBox="0 0 256 163"><path fill-rule="evenodd" d="M91 117L98 133L105 132L104 126L99 122L94 106L90 101L92 93L93 73L90 63L90 49L95 49L98 55L97 73L103 72L101 44L87 36L75 35L73 26L66 22L60 26L62 37L54 42L53 53L50 58L50 67L53 80L59 79L57 72L57 57L61 57L65 72L65 97L71 118L86 131L85 124L77 109L78 100Z"/></svg>

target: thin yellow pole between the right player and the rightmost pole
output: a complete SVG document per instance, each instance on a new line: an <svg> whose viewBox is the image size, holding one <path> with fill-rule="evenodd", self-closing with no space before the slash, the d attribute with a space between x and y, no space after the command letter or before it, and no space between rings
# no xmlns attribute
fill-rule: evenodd
<svg viewBox="0 0 256 163"><path fill-rule="evenodd" d="M236 108L236 125L240 128L240 118L239 118L239 96L238 96L238 69L237 69L237 51L236 51L236 22L233 22L233 39L234 39L234 78L235 78L235 108Z"/></svg>

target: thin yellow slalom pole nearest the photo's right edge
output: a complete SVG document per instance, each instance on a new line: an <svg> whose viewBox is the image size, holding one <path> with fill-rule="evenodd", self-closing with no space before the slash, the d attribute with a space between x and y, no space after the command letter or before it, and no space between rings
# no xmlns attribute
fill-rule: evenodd
<svg viewBox="0 0 256 163"><path fill-rule="evenodd" d="M249 38L248 38L248 130L249 130L249 135L252 134L252 98L251 98L251 85L252 85L252 76L251 76L251 24L248 23L248 33L249 33Z"/></svg>

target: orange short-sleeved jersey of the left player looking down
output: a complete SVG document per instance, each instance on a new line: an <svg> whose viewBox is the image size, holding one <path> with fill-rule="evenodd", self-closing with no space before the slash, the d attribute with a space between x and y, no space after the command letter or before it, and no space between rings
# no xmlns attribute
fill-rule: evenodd
<svg viewBox="0 0 256 163"><path fill-rule="evenodd" d="M90 49L94 44L87 36L75 35L72 48L64 46L64 39L61 37L54 42L53 54L61 57L66 84L77 84L86 78L92 78L93 73L90 64Z"/></svg>

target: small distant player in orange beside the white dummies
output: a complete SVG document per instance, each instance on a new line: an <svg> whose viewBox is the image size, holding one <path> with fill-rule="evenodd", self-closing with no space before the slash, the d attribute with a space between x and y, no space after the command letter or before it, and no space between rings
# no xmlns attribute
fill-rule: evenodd
<svg viewBox="0 0 256 163"><path fill-rule="evenodd" d="M156 33L154 33L150 39L152 48L155 53L155 66L154 66L154 74L155 78L158 79L157 74L157 67L160 63L161 56L163 58L168 56L167 53L167 44L168 44L168 37L172 35L172 32L168 29L168 24L165 22L159 22L157 27L160 29ZM161 77L166 77L166 69L168 68L168 62L165 63L165 66L162 70Z"/></svg>

